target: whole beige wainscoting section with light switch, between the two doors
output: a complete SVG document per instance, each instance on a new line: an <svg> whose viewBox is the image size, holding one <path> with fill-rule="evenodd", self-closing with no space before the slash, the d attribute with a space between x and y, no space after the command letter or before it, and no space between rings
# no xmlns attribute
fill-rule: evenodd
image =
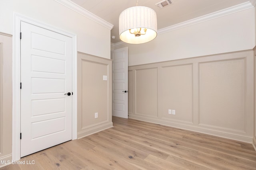
<svg viewBox="0 0 256 170"><path fill-rule="evenodd" d="M111 73L111 60L78 53L78 138L113 126Z"/></svg>

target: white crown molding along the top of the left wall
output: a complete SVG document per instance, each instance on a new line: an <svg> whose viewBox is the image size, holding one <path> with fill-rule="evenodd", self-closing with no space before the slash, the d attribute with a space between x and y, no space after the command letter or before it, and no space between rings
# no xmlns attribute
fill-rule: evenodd
<svg viewBox="0 0 256 170"><path fill-rule="evenodd" d="M103 25L104 27L106 27L110 30L114 26L111 23L109 23L109 22L103 20L102 18L96 16L95 14L92 14L88 10L78 6L77 4L75 4L74 2L72 2L70 0L55 0L55 1L62 4L63 6L66 6L66 7L70 8L74 12L77 12L78 14L81 14L81 15L89 18L92 21L95 21L96 23L99 23L100 25Z"/></svg>

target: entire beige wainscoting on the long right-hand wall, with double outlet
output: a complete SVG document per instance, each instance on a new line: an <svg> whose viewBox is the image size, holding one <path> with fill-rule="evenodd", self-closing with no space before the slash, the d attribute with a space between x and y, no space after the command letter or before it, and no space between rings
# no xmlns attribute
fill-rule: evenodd
<svg viewBox="0 0 256 170"><path fill-rule="evenodd" d="M129 118L252 143L252 50L128 69Z"/></svg>

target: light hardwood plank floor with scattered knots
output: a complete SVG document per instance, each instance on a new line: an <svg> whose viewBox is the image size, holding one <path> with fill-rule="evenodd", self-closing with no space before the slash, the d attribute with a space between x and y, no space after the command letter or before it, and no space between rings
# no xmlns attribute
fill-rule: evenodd
<svg viewBox="0 0 256 170"><path fill-rule="evenodd" d="M114 127L23 157L0 170L256 170L251 144L113 117ZM34 161L34 162L33 162Z"/></svg>

